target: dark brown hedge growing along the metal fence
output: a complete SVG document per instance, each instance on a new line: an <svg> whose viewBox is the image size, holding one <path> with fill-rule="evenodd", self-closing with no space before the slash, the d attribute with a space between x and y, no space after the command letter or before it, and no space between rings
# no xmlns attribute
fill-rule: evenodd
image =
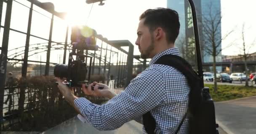
<svg viewBox="0 0 256 134"><path fill-rule="evenodd" d="M97 76L93 80L101 81L103 78ZM59 93L53 76L21 77L18 87L19 123L10 124L9 130L45 131L77 115L75 109ZM85 96L81 88L75 88L75 95L88 98L97 104L106 101L104 98Z"/></svg>

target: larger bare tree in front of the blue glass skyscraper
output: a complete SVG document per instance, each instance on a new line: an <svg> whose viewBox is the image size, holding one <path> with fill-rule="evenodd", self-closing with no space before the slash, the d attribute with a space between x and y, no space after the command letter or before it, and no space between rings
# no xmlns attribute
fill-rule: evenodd
<svg viewBox="0 0 256 134"><path fill-rule="evenodd" d="M221 36L221 11L213 8L212 4L209 5L209 12L202 13L202 21L200 22L203 27L203 51L205 54L213 57L213 73L214 73L214 91L217 91L216 82L216 56L225 48L221 48L221 42L225 40L232 32L229 31L224 36ZM231 46L233 43L227 45ZM226 48L227 48L226 47ZM204 54L204 55L205 55Z"/></svg>

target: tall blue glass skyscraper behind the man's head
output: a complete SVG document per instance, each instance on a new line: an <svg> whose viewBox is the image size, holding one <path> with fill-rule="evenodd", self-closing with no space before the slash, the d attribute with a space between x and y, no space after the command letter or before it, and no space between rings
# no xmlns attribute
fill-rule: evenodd
<svg viewBox="0 0 256 134"><path fill-rule="evenodd" d="M214 41L217 43L216 50L221 49L221 3L220 0L194 0L194 3L197 10L202 60L203 62L213 62L212 55L203 48L211 48L210 45L212 44L209 42L210 39L207 36L209 33L207 34L206 32L208 32L208 28L212 28L211 23L208 22L213 20L213 28L216 29L214 37ZM181 56L185 56L184 58L187 60L195 60L189 59L195 53L190 51L190 49L195 49L195 37L189 3L187 0L167 0L167 7L179 13L181 28L175 45L181 50ZM216 62L221 62L221 52L216 56Z"/></svg>

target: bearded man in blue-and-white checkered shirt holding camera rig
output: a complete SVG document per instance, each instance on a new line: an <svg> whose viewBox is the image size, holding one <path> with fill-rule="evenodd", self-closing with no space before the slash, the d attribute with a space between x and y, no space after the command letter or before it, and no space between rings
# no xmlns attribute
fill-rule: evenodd
<svg viewBox="0 0 256 134"><path fill-rule="evenodd" d="M150 111L156 121L156 134L174 134L187 111L190 88L181 72L154 63L165 54L179 55L174 47L179 27L178 13L171 9L149 9L140 16L136 45L141 58L151 58L149 67L131 80L119 95L108 90L107 85L96 82L88 88L82 87L87 95L112 98L106 104L99 106L86 98L77 98L56 78L61 92L96 129L117 129L131 120L142 123L142 115ZM94 91L92 85L95 85ZM99 86L104 86L104 90L98 90ZM188 119L185 119L179 134L187 134L187 129ZM144 128L143 132L147 133Z"/></svg>

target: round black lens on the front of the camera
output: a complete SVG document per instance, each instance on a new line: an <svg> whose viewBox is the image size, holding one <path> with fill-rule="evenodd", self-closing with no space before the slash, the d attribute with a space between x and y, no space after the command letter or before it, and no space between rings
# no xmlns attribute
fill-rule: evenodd
<svg viewBox="0 0 256 134"><path fill-rule="evenodd" d="M67 78L67 65L66 64L56 64L53 70L55 77L66 77Z"/></svg>

